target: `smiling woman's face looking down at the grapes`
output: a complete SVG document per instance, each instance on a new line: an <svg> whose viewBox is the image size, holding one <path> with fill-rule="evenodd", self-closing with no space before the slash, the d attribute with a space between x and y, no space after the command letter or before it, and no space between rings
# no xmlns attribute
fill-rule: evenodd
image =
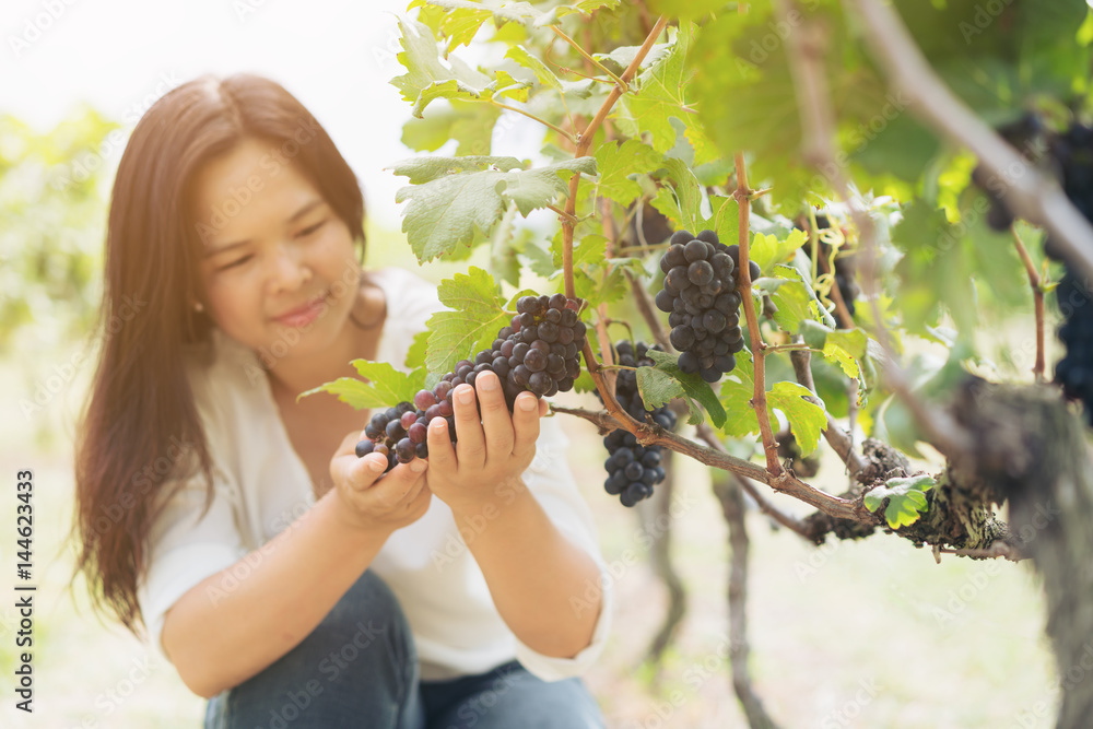
<svg viewBox="0 0 1093 729"><path fill-rule="evenodd" d="M306 356L345 325L361 267L349 227L278 146L247 139L207 163L192 215L213 321L254 350L280 340Z"/></svg>

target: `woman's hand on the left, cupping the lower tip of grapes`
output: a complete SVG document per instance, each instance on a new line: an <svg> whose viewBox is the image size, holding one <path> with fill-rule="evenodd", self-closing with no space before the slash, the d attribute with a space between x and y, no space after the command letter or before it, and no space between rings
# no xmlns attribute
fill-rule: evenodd
<svg viewBox="0 0 1093 729"><path fill-rule="evenodd" d="M428 463L420 458L399 463L386 475L387 458L380 454L356 457L356 444L365 436L354 431L345 436L330 459L330 477L339 513L356 529L390 534L413 524L428 510L432 497L425 485ZM383 477L383 478L380 478Z"/></svg>

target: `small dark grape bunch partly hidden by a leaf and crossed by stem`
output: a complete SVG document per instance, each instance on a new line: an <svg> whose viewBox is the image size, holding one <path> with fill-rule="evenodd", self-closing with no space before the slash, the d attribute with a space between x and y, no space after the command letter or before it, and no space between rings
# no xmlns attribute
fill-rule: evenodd
<svg viewBox="0 0 1093 729"><path fill-rule="evenodd" d="M619 342L615 344L618 363L627 367L651 367L653 360L645 355L649 349L660 348L649 348L639 342L635 351L630 342ZM615 399L623 410L638 421L645 422L646 415L649 415L654 423L666 431L675 427L675 413L668 408L645 408L642 395L637 391L637 374L632 369L619 371ZM660 466L660 446L643 446L637 443L633 433L621 428L611 431L603 438L603 445L608 449L608 459L603 461L608 478L603 482L603 489L612 496L619 496L623 506L633 506L651 496L653 487L665 480L665 469Z"/></svg>

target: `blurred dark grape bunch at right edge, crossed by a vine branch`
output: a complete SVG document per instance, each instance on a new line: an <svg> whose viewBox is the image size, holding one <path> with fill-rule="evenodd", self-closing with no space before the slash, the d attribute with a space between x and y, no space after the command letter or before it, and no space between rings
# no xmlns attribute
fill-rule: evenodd
<svg viewBox="0 0 1093 729"><path fill-rule="evenodd" d="M1051 139L1050 153L1061 172L1062 189L1085 219L1093 222L1093 128L1073 125ZM1044 251L1060 259L1050 238ZM1055 366L1055 379L1068 398L1085 404L1085 416L1093 425L1093 301L1082 278L1067 264L1067 272L1056 291L1059 310L1066 321L1058 336L1067 354Z"/></svg>

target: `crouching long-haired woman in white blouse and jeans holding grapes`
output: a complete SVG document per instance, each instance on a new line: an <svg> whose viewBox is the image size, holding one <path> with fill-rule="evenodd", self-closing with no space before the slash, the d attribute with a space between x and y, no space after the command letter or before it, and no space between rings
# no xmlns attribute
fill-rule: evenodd
<svg viewBox="0 0 1093 729"><path fill-rule="evenodd" d="M345 161L284 89L196 79L133 130L77 455L78 569L210 698L207 727L595 727L607 575L552 421L494 376L457 444L383 474L350 361L402 364L439 304L365 272ZM395 403L390 403L395 404ZM440 425L443 419L437 419Z"/></svg>

